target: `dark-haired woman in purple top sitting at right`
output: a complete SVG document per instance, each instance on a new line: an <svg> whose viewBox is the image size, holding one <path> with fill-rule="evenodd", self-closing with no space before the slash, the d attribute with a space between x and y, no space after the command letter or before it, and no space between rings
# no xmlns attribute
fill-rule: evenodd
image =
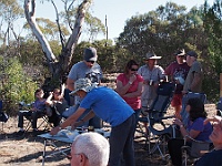
<svg viewBox="0 0 222 166"><path fill-rule="evenodd" d="M175 118L174 124L180 126L180 132L183 137L190 136L196 141L209 141L209 136L212 133L211 123L203 124L206 118L206 112L204 104L200 98L190 98L186 103L185 111L189 112L190 121L188 122L186 128L184 124ZM175 166L182 165L182 151L181 147L184 145L182 138L172 138L168 142L169 153L172 159L172 164Z"/></svg>

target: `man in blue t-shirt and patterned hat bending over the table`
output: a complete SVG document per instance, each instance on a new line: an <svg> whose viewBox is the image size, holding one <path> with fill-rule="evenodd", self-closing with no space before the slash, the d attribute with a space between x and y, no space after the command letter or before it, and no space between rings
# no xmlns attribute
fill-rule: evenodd
<svg viewBox="0 0 222 166"><path fill-rule="evenodd" d="M54 127L50 134L57 134L61 128L67 126L78 126L81 123L92 118L94 115L110 123L112 129L110 135L110 159L109 166L119 165L123 156L125 165L134 166L134 111L125 101L113 90L104 86L97 86L89 79L79 79L74 82L74 91L82 98L77 112L67 118L60 126ZM87 111L91 110L88 115L77 120Z"/></svg>

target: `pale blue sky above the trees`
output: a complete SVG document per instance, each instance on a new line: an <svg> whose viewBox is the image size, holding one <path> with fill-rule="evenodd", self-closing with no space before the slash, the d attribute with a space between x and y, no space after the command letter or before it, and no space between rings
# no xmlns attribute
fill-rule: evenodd
<svg viewBox="0 0 222 166"><path fill-rule="evenodd" d="M60 0L56 0L56 2ZM80 2L80 0L77 0ZM125 21L132 15L142 14L151 10L155 10L159 6L165 3L168 0L94 0L91 11L92 15L99 18L103 23L105 22L105 14L108 20L108 37L109 39L114 39L123 31ZM200 7L204 3L204 0L171 0L180 6L185 6L188 10L192 7ZM210 4L213 0L208 0ZM62 3L58 3L59 7ZM61 9L60 9L61 10ZM36 17L44 17L51 20L54 19L54 10L52 4L43 3L40 4L37 0L37 13ZM104 35L98 37L99 39L104 39Z"/></svg>

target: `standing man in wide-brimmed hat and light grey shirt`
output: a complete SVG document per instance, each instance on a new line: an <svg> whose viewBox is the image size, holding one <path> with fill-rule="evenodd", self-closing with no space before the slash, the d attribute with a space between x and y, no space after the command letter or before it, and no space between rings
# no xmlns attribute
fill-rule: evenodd
<svg viewBox="0 0 222 166"><path fill-rule="evenodd" d="M155 53L145 54L145 65L138 70L138 73L143 77L143 93L141 96L142 107L150 107L153 100L157 97L157 89L160 80L165 79L164 70L157 65L157 60L162 56L157 56Z"/></svg>

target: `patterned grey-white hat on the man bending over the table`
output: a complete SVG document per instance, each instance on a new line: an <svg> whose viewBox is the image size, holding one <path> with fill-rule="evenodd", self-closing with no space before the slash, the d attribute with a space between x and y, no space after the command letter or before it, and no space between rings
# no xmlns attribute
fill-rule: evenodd
<svg viewBox="0 0 222 166"><path fill-rule="evenodd" d="M90 92L92 89L97 87L97 85L98 83L92 83L88 77L79 79L74 82L74 91L72 91L70 95L74 95L80 90Z"/></svg>

